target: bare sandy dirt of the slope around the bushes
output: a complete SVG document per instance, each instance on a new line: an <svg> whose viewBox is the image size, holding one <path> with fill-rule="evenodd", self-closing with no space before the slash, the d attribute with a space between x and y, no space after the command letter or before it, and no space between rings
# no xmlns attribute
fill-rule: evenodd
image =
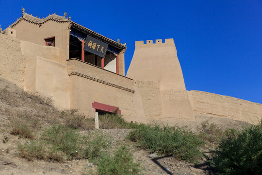
<svg viewBox="0 0 262 175"><path fill-rule="evenodd" d="M28 161L17 156L17 144L24 142L19 136L10 134L10 121L18 120L20 115L28 115L40 120L41 126L52 123L61 123L60 111L50 105L50 99L44 99L40 95L31 95L18 88L16 85L0 78L0 175L84 175L90 174L89 170L96 166L88 160L66 161L64 163L46 162L43 160ZM193 131L203 121L209 120L222 128L241 127L246 123L209 116L197 116L197 121L177 119L169 125L188 125ZM165 124L165 123L164 123ZM173 157L150 158L149 153L136 147L132 142L125 140L130 129L101 129L100 132L113 138L113 148L120 144L126 144L133 152L136 162L139 162L145 175L202 175L211 174L212 170L206 164L194 166ZM94 130L81 131L82 134L97 132Z"/></svg>

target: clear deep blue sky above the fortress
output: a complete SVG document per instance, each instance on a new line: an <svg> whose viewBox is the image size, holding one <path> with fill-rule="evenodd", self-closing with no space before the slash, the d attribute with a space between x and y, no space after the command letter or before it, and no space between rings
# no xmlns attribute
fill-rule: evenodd
<svg viewBox="0 0 262 175"><path fill-rule="evenodd" d="M22 7L119 38L126 72L136 40L174 38L187 90L262 104L262 0L0 0L1 28Z"/></svg>

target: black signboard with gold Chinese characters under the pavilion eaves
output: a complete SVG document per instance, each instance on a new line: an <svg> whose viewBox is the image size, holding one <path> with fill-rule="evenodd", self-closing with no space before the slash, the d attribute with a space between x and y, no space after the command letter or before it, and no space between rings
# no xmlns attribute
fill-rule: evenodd
<svg viewBox="0 0 262 175"><path fill-rule="evenodd" d="M84 43L84 50L94 53L102 58L105 57L108 44L100 41L92 36L87 35Z"/></svg>

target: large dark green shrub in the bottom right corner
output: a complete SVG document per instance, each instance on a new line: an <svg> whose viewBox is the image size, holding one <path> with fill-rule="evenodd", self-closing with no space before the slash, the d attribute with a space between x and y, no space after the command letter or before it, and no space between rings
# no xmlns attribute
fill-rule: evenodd
<svg viewBox="0 0 262 175"><path fill-rule="evenodd" d="M227 131L210 163L222 175L262 175L262 121Z"/></svg>

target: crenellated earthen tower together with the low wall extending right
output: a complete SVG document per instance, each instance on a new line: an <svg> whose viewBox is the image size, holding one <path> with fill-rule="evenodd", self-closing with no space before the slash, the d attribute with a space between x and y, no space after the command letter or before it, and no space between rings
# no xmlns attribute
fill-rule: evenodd
<svg viewBox="0 0 262 175"><path fill-rule="evenodd" d="M187 91L173 39L135 42L127 72L135 79L136 114L143 122L172 118L195 120L196 114L258 123L262 104L209 92ZM140 100L137 100L140 99ZM141 107L142 106L142 107ZM142 111L143 112L139 112Z"/></svg>

